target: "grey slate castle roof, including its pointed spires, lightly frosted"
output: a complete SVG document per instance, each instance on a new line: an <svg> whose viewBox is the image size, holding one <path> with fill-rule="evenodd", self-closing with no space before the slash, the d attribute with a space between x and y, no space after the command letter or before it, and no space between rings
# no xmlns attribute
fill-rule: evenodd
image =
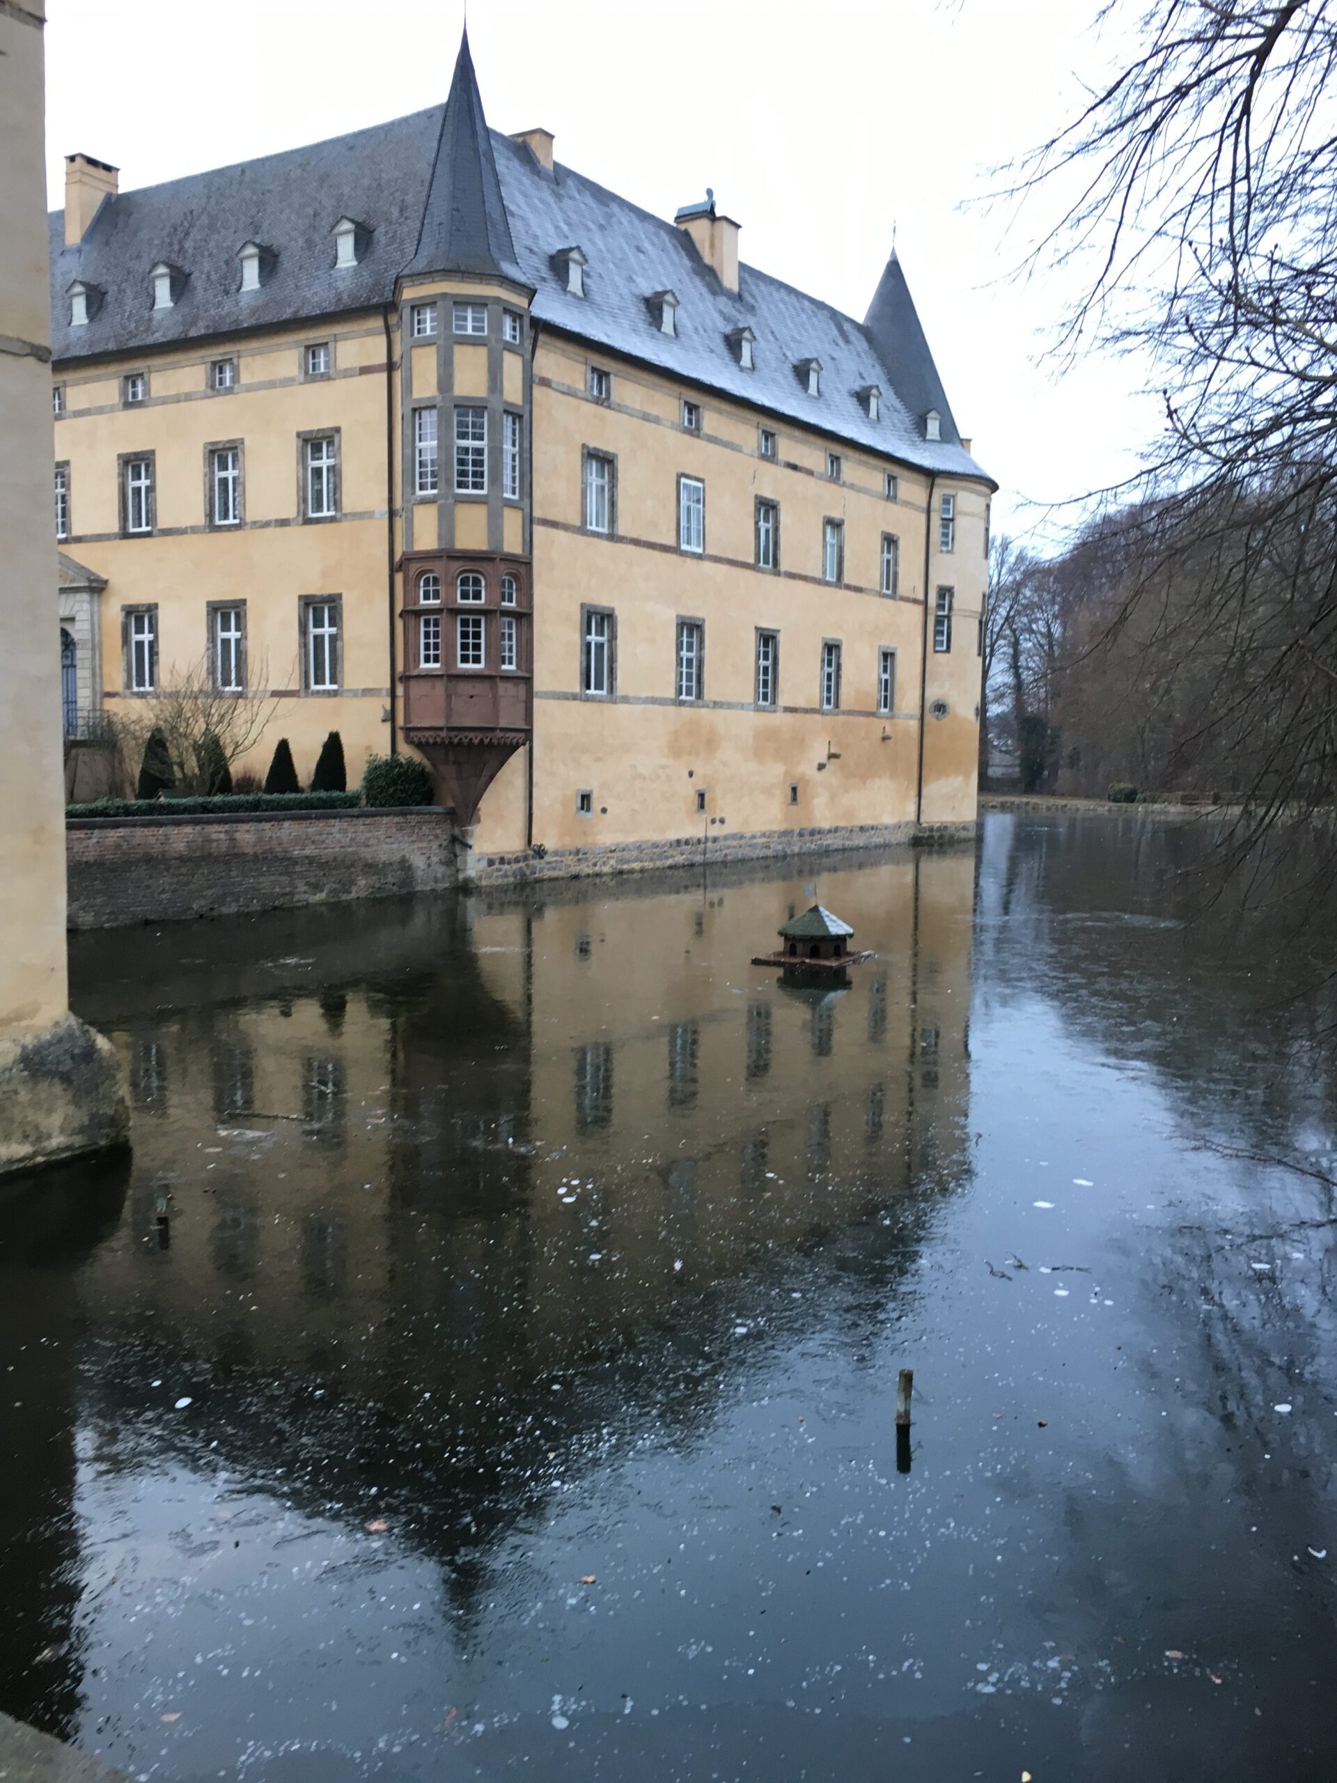
<svg viewBox="0 0 1337 1783"><path fill-rule="evenodd" d="M340 218L369 239L357 266L335 269ZM394 301L405 271L501 273L533 289L538 321L594 346L922 469L988 478L961 448L895 253L863 325L752 266L727 291L685 230L488 130L467 39L444 107L107 198L73 248L62 212L50 232L57 362L373 308ZM258 291L242 292L246 241L276 260ZM588 260L585 298L553 266L570 246ZM168 310L153 308L160 260L187 275ZM70 326L75 280L102 292L86 328ZM661 291L679 300L676 335L660 332L649 305ZM743 326L756 337L752 371L726 339ZM818 398L795 369L809 358L822 364ZM882 389L877 421L857 396L866 385ZM925 439L927 408L941 414L939 442Z"/></svg>

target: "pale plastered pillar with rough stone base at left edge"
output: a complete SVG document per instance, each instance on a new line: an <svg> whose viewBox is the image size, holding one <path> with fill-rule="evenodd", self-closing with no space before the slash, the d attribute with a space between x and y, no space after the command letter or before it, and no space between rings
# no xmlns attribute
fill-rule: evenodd
<svg viewBox="0 0 1337 1783"><path fill-rule="evenodd" d="M70 1015L52 508L41 0L0 5L0 1171L128 1136L116 1054Z"/></svg>

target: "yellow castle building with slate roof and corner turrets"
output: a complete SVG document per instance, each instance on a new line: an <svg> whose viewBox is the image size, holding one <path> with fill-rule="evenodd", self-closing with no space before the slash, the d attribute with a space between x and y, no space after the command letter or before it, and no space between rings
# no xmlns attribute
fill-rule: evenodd
<svg viewBox="0 0 1337 1783"><path fill-rule="evenodd" d="M989 496L891 255L863 323L449 98L52 216L66 722L207 674L480 854L975 817ZM100 685L98 685L100 683ZM91 692L80 692L91 688Z"/></svg>

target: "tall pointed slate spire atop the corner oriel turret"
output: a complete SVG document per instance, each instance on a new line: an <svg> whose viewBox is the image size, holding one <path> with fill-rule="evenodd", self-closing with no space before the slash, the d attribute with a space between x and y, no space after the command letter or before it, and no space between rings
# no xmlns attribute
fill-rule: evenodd
<svg viewBox="0 0 1337 1783"><path fill-rule="evenodd" d="M451 96L440 119L417 253L405 271L515 276L515 246L467 30L460 37Z"/></svg>

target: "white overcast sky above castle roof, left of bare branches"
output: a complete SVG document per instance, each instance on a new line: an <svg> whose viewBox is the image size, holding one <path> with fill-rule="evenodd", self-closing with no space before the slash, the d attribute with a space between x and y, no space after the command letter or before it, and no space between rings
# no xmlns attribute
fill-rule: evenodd
<svg viewBox="0 0 1337 1783"><path fill-rule="evenodd" d="M660 216L715 189L752 266L863 317L895 232L961 431L1039 542L1157 428L1136 369L1057 374L1064 287L1009 276L991 169L1080 103L1096 0L469 0L488 123ZM123 189L444 100L462 0L48 0L50 201L62 157ZM1041 212L1036 214L1036 223ZM1025 226L1025 225L1023 225Z"/></svg>

